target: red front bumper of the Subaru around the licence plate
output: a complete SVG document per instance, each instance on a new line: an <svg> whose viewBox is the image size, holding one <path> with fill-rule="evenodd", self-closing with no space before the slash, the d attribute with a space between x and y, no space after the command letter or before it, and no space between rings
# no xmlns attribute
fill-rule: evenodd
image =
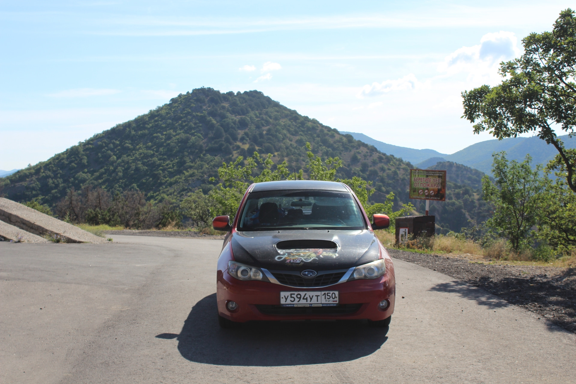
<svg viewBox="0 0 576 384"><path fill-rule="evenodd" d="M257 305L279 305L281 291L339 291L340 305L361 304L354 313L346 314L264 314ZM325 288L295 288L259 281L241 281L228 274L226 269L217 275L218 313L222 317L236 322L252 320L384 320L394 312L396 283L393 273L374 280L353 280L334 284ZM384 311L378 309L378 303L388 299L390 305ZM233 313L226 309L226 302L232 300L238 304Z"/></svg>

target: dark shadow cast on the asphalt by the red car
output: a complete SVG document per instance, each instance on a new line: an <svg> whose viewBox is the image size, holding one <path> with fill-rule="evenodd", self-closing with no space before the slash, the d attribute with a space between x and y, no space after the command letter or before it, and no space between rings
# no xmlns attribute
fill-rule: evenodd
<svg viewBox="0 0 576 384"><path fill-rule="evenodd" d="M248 322L237 329L221 329L216 294L200 300L188 314L177 339L181 355L192 362L226 366L295 366L346 362L376 352L388 328L372 328L366 321Z"/></svg>

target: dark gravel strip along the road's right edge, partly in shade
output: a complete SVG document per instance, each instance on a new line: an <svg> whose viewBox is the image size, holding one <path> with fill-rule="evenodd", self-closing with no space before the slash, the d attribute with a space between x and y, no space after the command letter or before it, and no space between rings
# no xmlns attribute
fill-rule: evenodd
<svg viewBox="0 0 576 384"><path fill-rule="evenodd" d="M576 333L576 268L484 264L398 249L388 253L480 287Z"/></svg>

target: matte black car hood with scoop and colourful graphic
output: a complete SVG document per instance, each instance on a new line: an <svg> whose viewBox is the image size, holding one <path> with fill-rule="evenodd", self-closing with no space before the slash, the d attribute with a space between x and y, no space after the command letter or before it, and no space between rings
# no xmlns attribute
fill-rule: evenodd
<svg viewBox="0 0 576 384"><path fill-rule="evenodd" d="M277 249L280 244L304 246ZM319 240L332 241L337 248L305 248ZM291 241L284 242L282 241ZM322 242L323 241L323 242ZM306 245L308 244L308 245ZM284 246L283 248L287 248ZM288 247L290 248L290 247ZM232 235L232 252L238 263L270 270L304 271L347 269L378 259L378 241L368 230L281 230L245 231Z"/></svg>

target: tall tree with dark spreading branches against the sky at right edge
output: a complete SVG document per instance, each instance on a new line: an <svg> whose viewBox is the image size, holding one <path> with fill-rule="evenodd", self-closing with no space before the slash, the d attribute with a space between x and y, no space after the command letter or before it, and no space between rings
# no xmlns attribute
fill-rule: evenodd
<svg viewBox="0 0 576 384"><path fill-rule="evenodd" d="M563 170L576 193L576 150L566 149L555 130L574 135L576 125L576 18L566 9L552 32L530 33L522 39L524 54L502 62L507 77L495 87L483 85L462 93L464 116L474 133L490 131L498 139L526 132L536 134L558 150L552 166Z"/></svg>

